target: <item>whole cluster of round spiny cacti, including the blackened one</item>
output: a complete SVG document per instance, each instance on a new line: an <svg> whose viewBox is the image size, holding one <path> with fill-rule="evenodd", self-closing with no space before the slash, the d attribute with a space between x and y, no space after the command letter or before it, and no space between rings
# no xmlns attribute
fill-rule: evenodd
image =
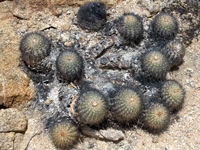
<svg viewBox="0 0 200 150"><path fill-rule="evenodd" d="M99 30L106 23L105 4L86 3L79 9L77 19L82 28ZM137 43L143 37L142 18L134 13L125 13L118 19L117 30L124 40ZM144 77L158 81L160 97L152 101L145 100L144 94L131 86L120 87L112 97L106 97L96 89L82 90L74 105L78 117L73 119L79 124L98 124L111 113L119 122L142 119L150 131L160 132L168 127L170 114L183 104L185 92L177 81L166 80L166 74L171 67L183 61L185 47L180 42L172 41L178 32L178 23L170 14L157 15L150 30L156 37L171 40L160 50L146 51L140 59ZM20 50L22 59L30 68L37 69L42 59L50 54L50 42L41 34L27 34L20 43ZM55 61L59 77L68 83L80 79L84 70L82 56L72 49L60 51ZM79 135L78 126L70 119L52 123L49 133L54 145L60 149L71 146Z"/></svg>

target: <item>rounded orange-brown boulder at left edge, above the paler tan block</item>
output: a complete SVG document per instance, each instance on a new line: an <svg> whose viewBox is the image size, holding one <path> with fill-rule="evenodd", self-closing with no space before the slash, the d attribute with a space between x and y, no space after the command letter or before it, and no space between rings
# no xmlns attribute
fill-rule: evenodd
<svg viewBox="0 0 200 150"><path fill-rule="evenodd" d="M14 68L13 68L14 69ZM13 72L11 72L13 71ZM30 89L30 79L19 68L3 74L3 105L17 107L33 97L33 89ZM11 74L12 73L12 74Z"/></svg>

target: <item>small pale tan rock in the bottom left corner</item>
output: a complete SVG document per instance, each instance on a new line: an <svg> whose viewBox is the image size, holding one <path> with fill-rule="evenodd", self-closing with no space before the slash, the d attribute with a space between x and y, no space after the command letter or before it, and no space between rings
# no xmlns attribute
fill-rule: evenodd
<svg viewBox="0 0 200 150"><path fill-rule="evenodd" d="M0 133L0 150L14 150L13 141L15 133Z"/></svg>

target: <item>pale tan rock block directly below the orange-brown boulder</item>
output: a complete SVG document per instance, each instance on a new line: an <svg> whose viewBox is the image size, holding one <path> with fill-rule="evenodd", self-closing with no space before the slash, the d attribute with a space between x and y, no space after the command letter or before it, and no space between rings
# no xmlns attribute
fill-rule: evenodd
<svg viewBox="0 0 200 150"><path fill-rule="evenodd" d="M26 126L25 116L16 108L0 110L0 132L23 132Z"/></svg>

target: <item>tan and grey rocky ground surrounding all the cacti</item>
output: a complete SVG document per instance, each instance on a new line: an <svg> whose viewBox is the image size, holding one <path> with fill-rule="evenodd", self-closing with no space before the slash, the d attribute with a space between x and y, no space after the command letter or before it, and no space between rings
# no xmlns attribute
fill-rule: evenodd
<svg viewBox="0 0 200 150"><path fill-rule="evenodd" d="M82 129L84 134L73 149L200 149L200 4L195 0L103 1L107 6L106 26L99 32L88 32L76 20L77 11L85 1L0 0L1 150L54 150L44 124L52 116L70 116L67 105L78 97L83 84L105 95L117 84L140 84L133 70L140 68L138 58L147 45L155 44L148 39L148 25L162 10L177 18L176 39L186 46L183 64L167 74L168 79L179 81L185 88L183 108L171 117L169 128L160 135L151 134L136 123L122 127L108 121L98 131ZM145 33L139 45L126 46L115 28L114 21L124 12L143 17ZM20 58L20 40L26 33L35 31L52 41L49 60L53 65L47 74L28 69ZM59 49L67 46L77 49L84 58L81 84L67 85L57 80L55 59ZM103 58L108 59L106 66L101 64ZM147 87L147 91L151 89ZM65 98L61 99L62 96Z"/></svg>

